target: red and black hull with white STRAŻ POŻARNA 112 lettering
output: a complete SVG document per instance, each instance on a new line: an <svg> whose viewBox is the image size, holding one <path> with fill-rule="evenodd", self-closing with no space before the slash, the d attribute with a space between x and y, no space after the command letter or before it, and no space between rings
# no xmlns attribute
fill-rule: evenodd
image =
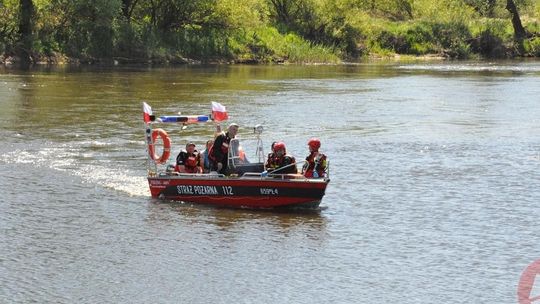
<svg viewBox="0 0 540 304"><path fill-rule="evenodd" d="M328 179L148 177L152 197L236 208L317 208Z"/></svg>

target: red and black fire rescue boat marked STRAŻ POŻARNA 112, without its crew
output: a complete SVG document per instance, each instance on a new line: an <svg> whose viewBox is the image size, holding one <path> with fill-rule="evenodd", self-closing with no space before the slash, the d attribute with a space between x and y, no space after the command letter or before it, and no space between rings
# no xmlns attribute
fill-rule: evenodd
<svg viewBox="0 0 540 304"><path fill-rule="evenodd" d="M145 112L150 107L145 104ZM150 110L151 111L151 110ZM146 113L148 114L148 113ZM229 150L230 174L216 172L206 174L178 173L169 168L161 168L168 157L170 140L162 129L152 130L156 123L200 123L212 120L209 116L162 116L155 118L149 113L145 118L146 141L148 147L148 184L152 197L208 204L223 207L255 209L317 209L330 182L328 174L322 178L305 178L300 174L267 174L264 168L264 152L260 134L262 127L254 128L257 135L256 163L241 163L238 151L231 141ZM145 117L147 117L145 115ZM164 148L163 155L156 155L155 140L158 133ZM237 140L236 140L237 141ZM295 164L296 165L296 164ZM276 172L279 170L276 170Z"/></svg>

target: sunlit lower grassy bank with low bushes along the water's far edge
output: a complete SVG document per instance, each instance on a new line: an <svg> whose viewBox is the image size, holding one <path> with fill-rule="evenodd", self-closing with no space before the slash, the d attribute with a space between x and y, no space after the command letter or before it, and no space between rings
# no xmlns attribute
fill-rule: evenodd
<svg viewBox="0 0 540 304"><path fill-rule="evenodd" d="M495 31L486 25L466 28L433 22L401 22L379 25L370 36L355 38L351 45L313 43L294 32L266 26L247 31L216 33L176 32L171 43L164 38L142 48L143 40L108 56L35 48L0 56L2 65L181 65L181 64L341 64L365 60L515 59L540 57L540 35L516 41L511 27ZM491 23L489 23L491 24ZM186 39L185 36L189 36ZM181 40L182 38L183 40ZM210 47L211 46L211 47ZM206 49L205 49L206 48ZM22 53L22 55L17 55Z"/></svg>

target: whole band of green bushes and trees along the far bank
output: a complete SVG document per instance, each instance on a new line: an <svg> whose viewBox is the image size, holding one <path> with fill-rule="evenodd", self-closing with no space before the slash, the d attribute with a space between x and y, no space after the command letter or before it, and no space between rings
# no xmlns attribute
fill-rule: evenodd
<svg viewBox="0 0 540 304"><path fill-rule="evenodd" d="M540 57L540 0L0 0L0 63Z"/></svg>

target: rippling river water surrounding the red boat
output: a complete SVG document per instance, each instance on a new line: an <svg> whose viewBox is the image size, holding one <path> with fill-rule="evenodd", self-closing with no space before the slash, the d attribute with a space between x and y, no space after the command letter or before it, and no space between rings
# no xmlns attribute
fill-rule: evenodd
<svg viewBox="0 0 540 304"><path fill-rule="evenodd" d="M214 100L248 157L321 139L321 211L150 197L141 102ZM0 105L2 303L516 303L540 258L538 61L2 69Z"/></svg>

